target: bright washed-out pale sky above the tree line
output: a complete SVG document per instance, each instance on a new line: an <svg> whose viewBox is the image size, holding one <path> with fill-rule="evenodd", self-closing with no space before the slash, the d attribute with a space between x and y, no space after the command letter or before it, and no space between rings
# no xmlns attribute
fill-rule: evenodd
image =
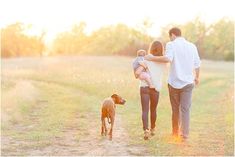
<svg viewBox="0 0 235 157"><path fill-rule="evenodd" d="M222 17L234 19L233 0L1 0L0 27L15 22L32 24L32 33L47 31L47 39L84 21L87 32L124 23L136 27L153 22L151 35L169 23L184 23L200 16L210 24Z"/></svg>

